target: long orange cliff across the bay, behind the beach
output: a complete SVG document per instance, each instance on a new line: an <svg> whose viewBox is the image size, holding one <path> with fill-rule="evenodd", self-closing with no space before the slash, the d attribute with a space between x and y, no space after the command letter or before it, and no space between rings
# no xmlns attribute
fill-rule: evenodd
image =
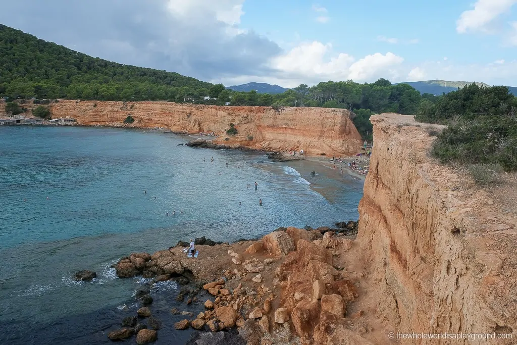
<svg viewBox="0 0 517 345"><path fill-rule="evenodd" d="M361 137L351 112L331 108L218 107L173 102L100 102L62 100L52 103L52 117L70 116L82 125L164 127L188 133L214 132L216 141L267 151L299 151L308 155L359 152ZM135 122L125 125L131 115ZM236 136L226 136L230 124ZM225 140L225 138L229 138Z"/></svg>

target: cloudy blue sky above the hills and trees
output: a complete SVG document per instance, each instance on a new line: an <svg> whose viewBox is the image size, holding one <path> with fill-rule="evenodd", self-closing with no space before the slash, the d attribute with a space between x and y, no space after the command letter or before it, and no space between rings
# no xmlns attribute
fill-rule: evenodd
<svg viewBox="0 0 517 345"><path fill-rule="evenodd" d="M17 0L0 23L110 61L226 86L517 86L517 0Z"/></svg>

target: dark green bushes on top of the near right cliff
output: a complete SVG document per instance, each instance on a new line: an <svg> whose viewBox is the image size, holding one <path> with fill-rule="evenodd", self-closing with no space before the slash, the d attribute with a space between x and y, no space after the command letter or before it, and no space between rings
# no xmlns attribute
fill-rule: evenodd
<svg viewBox="0 0 517 345"><path fill-rule="evenodd" d="M517 170L517 98L506 86L471 84L434 103L422 100L416 119L447 125L433 146L443 162Z"/></svg>

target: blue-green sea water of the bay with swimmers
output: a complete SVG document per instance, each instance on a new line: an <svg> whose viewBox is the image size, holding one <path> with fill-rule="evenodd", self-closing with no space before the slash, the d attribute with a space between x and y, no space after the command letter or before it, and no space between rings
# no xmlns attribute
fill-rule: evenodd
<svg viewBox="0 0 517 345"><path fill-rule="evenodd" d="M135 308L127 301L142 283L115 279L109 267L130 252L358 217L358 179L307 160L287 165L262 153L177 146L190 139L144 130L0 127L0 341L27 343L13 325L34 332L34 343L73 343L60 338L63 332L77 341L107 339L107 310ZM99 278L73 282L80 269ZM74 324L83 325L81 332ZM62 330L49 338L45 327Z"/></svg>

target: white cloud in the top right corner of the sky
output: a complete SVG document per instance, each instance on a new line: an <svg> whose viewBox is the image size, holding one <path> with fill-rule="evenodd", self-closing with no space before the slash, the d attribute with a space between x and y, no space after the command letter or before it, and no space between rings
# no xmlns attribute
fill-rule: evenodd
<svg viewBox="0 0 517 345"><path fill-rule="evenodd" d="M489 25L501 14L507 12L517 0L478 0L474 9L461 13L456 22L456 31L460 34L467 32L490 32Z"/></svg>

